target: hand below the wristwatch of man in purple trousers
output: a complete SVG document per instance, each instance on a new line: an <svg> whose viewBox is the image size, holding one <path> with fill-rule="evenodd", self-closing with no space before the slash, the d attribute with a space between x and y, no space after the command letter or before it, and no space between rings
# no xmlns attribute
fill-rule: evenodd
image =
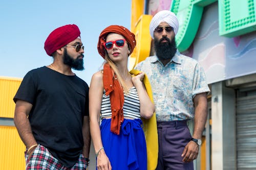
<svg viewBox="0 0 256 170"><path fill-rule="evenodd" d="M194 159L197 159L199 152L199 146L194 141L189 141L184 148L181 157L183 157L183 162L191 162Z"/></svg>

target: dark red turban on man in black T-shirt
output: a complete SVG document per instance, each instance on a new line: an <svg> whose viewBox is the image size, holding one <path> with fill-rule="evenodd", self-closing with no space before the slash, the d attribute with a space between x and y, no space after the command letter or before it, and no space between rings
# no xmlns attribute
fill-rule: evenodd
<svg viewBox="0 0 256 170"><path fill-rule="evenodd" d="M80 30L74 24L62 26L53 30L45 42L46 53L49 56L52 56L56 50L67 45L71 41L74 41L79 36Z"/></svg>

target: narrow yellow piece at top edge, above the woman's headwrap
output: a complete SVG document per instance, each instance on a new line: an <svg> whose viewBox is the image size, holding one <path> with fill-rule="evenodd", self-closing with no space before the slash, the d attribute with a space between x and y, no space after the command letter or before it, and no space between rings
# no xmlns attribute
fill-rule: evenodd
<svg viewBox="0 0 256 170"><path fill-rule="evenodd" d="M144 0L132 0L131 31L134 33L136 23L144 12Z"/></svg>

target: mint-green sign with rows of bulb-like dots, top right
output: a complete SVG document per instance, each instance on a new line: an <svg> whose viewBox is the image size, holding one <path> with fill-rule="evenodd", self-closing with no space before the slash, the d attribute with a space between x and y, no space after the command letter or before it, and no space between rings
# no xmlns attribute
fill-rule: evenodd
<svg viewBox="0 0 256 170"><path fill-rule="evenodd" d="M176 35L180 52L193 42L203 8L214 2L217 0L173 0L170 11L176 13L180 22ZM219 0L218 7L220 36L236 37L256 30L256 0Z"/></svg>

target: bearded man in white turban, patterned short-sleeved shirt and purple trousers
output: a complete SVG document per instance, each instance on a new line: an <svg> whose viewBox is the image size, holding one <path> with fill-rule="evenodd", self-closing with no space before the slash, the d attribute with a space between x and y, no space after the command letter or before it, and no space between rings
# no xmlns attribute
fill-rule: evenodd
<svg viewBox="0 0 256 170"><path fill-rule="evenodd" d="M156 107L159 169L194 169L207 117L209 88L199 63L177 51L177 16L158 12L150 23L156 55L138 63L135 69L150 80ZM194 119L190 134L188 120Z"/></svg>

